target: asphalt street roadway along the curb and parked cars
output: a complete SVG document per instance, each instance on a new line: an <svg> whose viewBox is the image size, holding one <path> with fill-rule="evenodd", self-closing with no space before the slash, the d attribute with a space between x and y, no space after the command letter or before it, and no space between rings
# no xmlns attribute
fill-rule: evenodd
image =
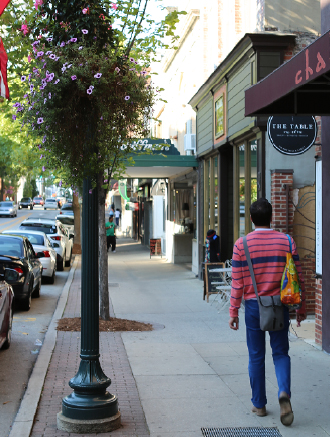
<svg viewBox="0 0 330 437"><path fill-rule="evenodd" d="M53 218L58 213L54 210L44 211L39 206L32 211L19 210L17 218L0 218L0 231L17 229L28 217ZM10 432L68 272L69 267L63 272L56 272L53 285L42 284L40 298L32 299L30 311L15 308L11 346L8 350L0 350L1 437L8 436Z"/></svg>

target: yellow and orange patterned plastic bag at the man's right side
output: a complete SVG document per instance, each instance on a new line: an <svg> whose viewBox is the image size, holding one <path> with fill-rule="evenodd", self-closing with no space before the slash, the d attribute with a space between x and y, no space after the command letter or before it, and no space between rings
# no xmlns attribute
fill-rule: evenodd
<svg viewBox="0 0 330 437"><path fill-rule="evenodd" d="M290 309L299 309L302 304L301 287L296 265L292 258L291 239L290 253L286 254L286 264L281 280L281 302Z"/></svg>

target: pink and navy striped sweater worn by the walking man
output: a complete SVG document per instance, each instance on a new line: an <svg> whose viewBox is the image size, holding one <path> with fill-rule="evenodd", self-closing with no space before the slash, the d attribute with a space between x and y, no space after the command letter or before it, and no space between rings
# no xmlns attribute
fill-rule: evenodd
<svg viewBox="0 0 330 437"><path fill-rule="evenodd" d="M297 267L303 304L299 313L306 312L304 278L301 272L296 244L291 238L292 256ZM272 229L262 229L247 235L247 244L260 296L280 294L281 279L286 263L286 254L290 252L290 244L286 234ZM233 251L232 285L230 297L230 317L237 317L242 297L245 300L256 298L243 247L243 238L239 238Z"/></svg>

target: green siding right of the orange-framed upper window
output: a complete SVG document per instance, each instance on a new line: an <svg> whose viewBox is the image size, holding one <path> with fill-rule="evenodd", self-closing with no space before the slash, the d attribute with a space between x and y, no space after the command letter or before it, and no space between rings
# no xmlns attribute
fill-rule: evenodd
<svg viewBox="0 0 330 437"><path fill-rule="evenodd" d="M228 82L228 136L246 128L250 117L244 116L245 99L244 91L251 86L250 62L229 79Z"/></svg>

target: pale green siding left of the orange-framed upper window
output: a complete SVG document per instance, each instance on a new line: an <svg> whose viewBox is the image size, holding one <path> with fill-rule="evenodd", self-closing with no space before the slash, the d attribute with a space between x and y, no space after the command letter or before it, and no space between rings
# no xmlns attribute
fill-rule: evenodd
<svg viewBox="0 0 330 437"><path fill-rule="evenodd" d="M197 112L197 155L213 146L213 98Z"/></svg>

